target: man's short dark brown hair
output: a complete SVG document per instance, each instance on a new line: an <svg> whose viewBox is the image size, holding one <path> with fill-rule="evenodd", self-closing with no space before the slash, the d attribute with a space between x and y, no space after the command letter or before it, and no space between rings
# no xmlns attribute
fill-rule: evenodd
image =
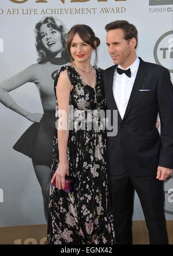
<svg viewBox="0 0 173 256"><path fill-rule="evenodd" d="M108 23L105 26L106 32L112 29L117 29L117 28L121 28L125 32L125 40L130 40L131 38L135 38L136 42L138 43L138 31L133 24L130 24L126 20L115 20L115 21L112 21L111 23ZM137 47L137 43L136 43L136 47Z"/></svg>

